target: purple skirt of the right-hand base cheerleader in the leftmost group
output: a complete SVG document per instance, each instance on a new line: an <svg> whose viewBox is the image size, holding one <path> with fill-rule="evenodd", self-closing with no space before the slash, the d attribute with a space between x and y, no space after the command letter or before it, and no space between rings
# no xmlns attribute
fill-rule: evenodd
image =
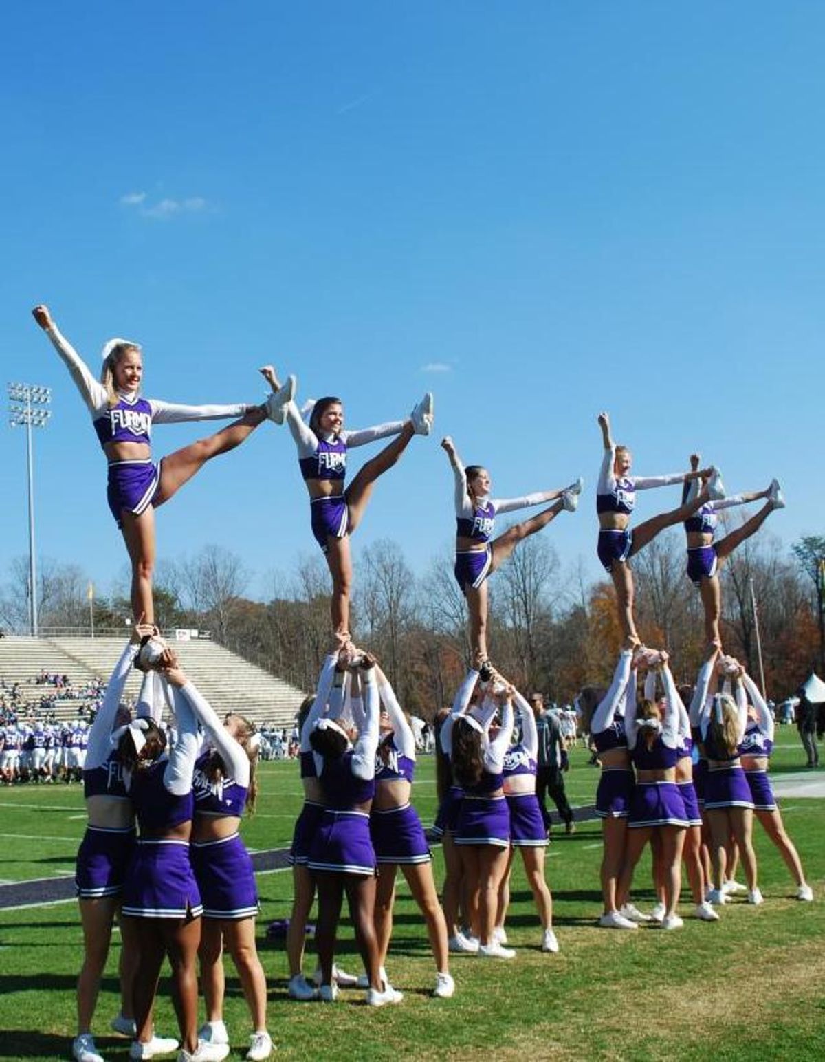
<svg viewBox="0 0 825 1062"><path fill-rule="evenodd" d="M239 922L257 915L260 904L255 872L240 834L220 841L192 842L190 855L205 919Z"/></svg>

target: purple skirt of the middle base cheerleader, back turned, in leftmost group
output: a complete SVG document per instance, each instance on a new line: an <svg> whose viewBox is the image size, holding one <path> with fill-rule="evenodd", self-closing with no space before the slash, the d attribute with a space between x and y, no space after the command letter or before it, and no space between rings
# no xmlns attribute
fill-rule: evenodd
<svg viewBox="0 0 825 1062"><path fill-rule="evenodd" d="M197 919L203 914L188 841L138 841L123 889L122 911L135 919Z"/></svg>

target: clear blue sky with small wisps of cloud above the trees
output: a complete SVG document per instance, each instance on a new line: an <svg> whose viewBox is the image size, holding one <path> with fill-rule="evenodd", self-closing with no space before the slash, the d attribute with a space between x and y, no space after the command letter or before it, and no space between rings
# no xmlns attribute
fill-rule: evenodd
<svg viewBox="0 0 825 1062"><path fill-rule="evenodd" d="M355 539L394 537L418 571L453 532L450 433L499 496L585 476L546 535L597 577L600 409L637 472L700 448L729 490L780 478L786 544L825 532L824 35L793 2L12 5L0 349L6 380L54 391L38 551L104 589L124 561L38 302L96 370L138 339L150 396L258 400L273 361L358 427L432 389L434 438ZM200 433L161 426L154 452ZM23 447L3 430L3 571L27 550ZM204 469L158 531L160 556L217 543L265 593L316 548L286 431Z"/></svg>

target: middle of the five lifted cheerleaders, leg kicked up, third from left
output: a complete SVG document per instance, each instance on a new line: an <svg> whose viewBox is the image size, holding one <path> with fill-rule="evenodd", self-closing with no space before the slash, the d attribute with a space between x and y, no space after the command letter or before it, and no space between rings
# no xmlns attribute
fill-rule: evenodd
<svg viewBox="0 0 825 1062"><path fill-rule="evenodd" d="M441 445L456 480L456 581L467 600L474 656L483 663L487 658L487 576L511 555L519 542L547 527L563 509L575 512L583 481L579 479L562 491L539 491L522 498L491 498L487 469L482 465L465 468L449 435ZM497 513L512 513L548 501L555 503L493 538Z"/></svg>

